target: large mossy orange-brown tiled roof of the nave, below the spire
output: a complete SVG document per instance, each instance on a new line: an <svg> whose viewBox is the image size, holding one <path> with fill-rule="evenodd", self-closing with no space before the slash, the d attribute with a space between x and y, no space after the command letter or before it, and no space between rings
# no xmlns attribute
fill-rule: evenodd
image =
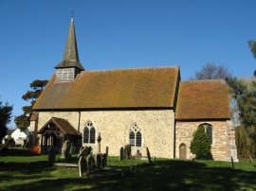
<svg viewBox="0 0 256 191"><path fill-rule="evenodd" d="M34 110L174 107L178 67L83 71L49 80Z"/></svg>

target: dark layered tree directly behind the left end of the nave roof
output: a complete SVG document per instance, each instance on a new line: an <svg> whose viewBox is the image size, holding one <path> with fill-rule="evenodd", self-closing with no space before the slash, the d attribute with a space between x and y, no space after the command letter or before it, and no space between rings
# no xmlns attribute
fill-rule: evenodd
<svg viewBox="0 0 256 191"><path fill-rule="evenodd" d="M24 106L22 108L23 114L16 116L14 121L17 125L17 127L20 130L26 130L29 126L29 117L32 113L33 105L35 104L37 98L41 95L44 88L46 87L48 80L34 80L30 83L30 88L32 90L27 91L25 95L22 96L22 98L26 101L30 101L30 105Z"/></svg>

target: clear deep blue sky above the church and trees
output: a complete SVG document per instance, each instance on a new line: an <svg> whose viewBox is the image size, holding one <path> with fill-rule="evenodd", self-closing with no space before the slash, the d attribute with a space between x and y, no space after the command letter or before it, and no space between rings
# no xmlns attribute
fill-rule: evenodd
<svg viewBox="0 0 256 191"><path fill-rule="evenodd" d="M22 113L29 83L50 78L63 58L72 10L87 70L179 65L185 80L215 62L250 78L255 8L255 0L0 0L0 100Z"/></svg>

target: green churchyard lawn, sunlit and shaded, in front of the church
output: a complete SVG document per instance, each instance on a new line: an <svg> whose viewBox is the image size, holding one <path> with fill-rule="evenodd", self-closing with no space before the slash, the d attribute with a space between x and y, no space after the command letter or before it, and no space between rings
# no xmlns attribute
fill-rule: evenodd
<svg viewBox="0 0 256 191"><path fill-rule="evenodd" d="M58 156L59 157L59 156ZM80 178L78 168L49 166L47 156L0 156L0 190L256 190L256 163L145 161L109 157L109 166L138 165L135 176ZM74 159L76 160L76 159Z"/></svg>

